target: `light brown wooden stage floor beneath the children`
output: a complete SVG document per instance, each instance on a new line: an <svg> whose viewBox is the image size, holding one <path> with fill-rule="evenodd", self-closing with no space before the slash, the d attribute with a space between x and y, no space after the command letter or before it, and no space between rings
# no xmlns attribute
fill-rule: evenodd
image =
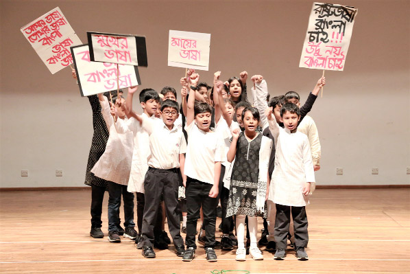
<svg viewBox="0 0 410 274"><path fill-rule="evenodd" d="M316 190L306 208L306 262L290 249L284 261L263 251L265 260L245 262L217 249L218 262L210 263L201 248L182 262L171 246L148 260L128 239L88 235L89 190L0 192L0 200L0 273L410 273L409 188ZM108 194L106 236L107 201Z"/></svg>

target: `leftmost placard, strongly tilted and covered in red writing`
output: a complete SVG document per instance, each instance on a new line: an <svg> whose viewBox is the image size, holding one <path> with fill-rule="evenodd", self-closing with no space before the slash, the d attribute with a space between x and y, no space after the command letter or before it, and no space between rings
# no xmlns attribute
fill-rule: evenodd
<svg viewBox="0 0 410 274"><path fill-rule="evenodd" d="M58 7L22 27L21 32L53 74L73 63L70 47L81 44Z"/></svg>

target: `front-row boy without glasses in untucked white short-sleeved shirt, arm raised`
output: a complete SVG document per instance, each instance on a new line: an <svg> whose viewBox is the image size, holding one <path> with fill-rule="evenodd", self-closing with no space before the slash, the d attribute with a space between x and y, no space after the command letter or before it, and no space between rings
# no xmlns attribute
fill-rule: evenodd
<svg viewBox="0 0 410 274"><path fill-rule="evenodd" d="M196 85L198 76L193 73L190 80L181 79L185 87ZM211 109L206 103L195 104L195 91L191 89L187 102L186 132L188 147L184 173L186 178L186 203L188 216L186 222L186 251L182 260L191 261L195 258L195 232L200 208L204 213L203 227L206 231L206 260L215 262L217 255L215 246L215 222L217 196L219 192L219 174L221 162L225 161L224 145L217 133L210 130ZM194 122L195 120L195 122Z"/></svg>

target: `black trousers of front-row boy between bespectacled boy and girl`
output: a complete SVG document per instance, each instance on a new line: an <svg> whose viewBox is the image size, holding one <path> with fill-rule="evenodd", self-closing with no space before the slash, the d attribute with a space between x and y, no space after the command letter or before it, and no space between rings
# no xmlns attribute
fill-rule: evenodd
<svg viewBox="0 0 410 274"><path fill-rule="evenodd" d="M204 214L202 229L206 233L206 247L215 247L215 222L217 220L217 198L210 198L209 192L213 187L210 183L204 183L192 178L186 178L186 247L197 248L195 244L195 234L197 229L197 220L200 218L200 209Z"/></svg>

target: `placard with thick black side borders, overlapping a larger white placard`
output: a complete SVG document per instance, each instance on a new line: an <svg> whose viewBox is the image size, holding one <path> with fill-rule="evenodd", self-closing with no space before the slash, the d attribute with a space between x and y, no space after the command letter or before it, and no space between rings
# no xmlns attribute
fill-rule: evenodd
<svg viewBox="0 0 410 274"><path fill-rule="evenodd" d="M144 36L87 32L91 60L147 67L147 46Z"/></svg>

